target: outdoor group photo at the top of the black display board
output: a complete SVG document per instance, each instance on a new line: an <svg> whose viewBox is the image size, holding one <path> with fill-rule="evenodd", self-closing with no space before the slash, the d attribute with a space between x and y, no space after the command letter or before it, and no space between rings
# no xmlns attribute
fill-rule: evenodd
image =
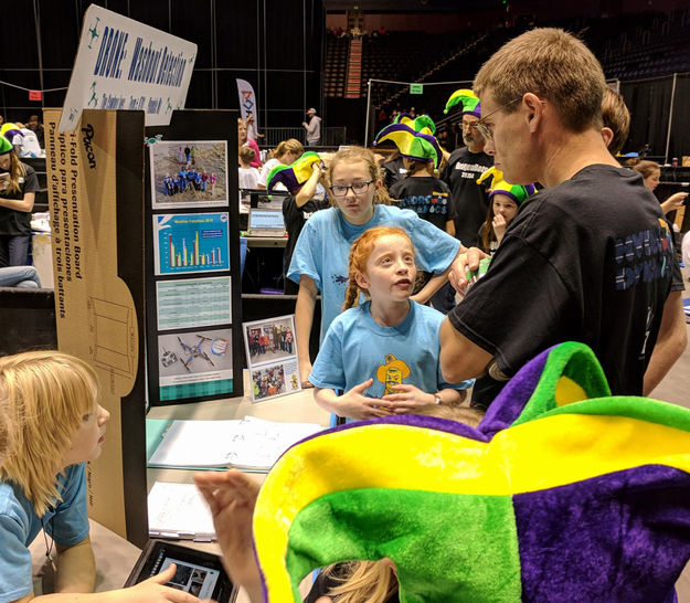
<svg viewBox="0 0 690 603"><path fill-rule="evenodd" d="M149 154L155 210L227 207L226 140L159 140Z"/></svg>

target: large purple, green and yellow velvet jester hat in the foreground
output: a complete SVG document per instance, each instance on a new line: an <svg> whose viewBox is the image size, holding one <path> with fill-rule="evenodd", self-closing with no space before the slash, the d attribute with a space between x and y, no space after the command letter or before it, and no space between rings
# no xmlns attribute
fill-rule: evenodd
<svg viewBox="0 0 690 603"><path fill-rule="evenodd" d="M690 411L612 396L583 343L542 352L477 429L401 415L302 440L259 493L265 600L392 559L400 600L667 601L690 558Z"/></svg>

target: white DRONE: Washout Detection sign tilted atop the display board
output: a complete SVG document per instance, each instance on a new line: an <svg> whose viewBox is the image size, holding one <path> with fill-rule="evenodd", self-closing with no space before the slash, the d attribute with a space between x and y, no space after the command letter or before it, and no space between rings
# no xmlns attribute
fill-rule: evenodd
<svg viewBox="0 0 690 603"><path fill-rule="evenodd" d="M144 110L147 126L167 126L184 108L197 44L92 4L70 78L59 131L83 109Z"/></svg>

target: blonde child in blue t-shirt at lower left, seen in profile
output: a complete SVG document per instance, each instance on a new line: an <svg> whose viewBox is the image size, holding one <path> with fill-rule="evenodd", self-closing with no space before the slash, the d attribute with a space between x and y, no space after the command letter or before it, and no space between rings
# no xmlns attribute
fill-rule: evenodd
<svg viewBox="0 0 690 603"><path fill-rule="evenodd" d="M28 547L41 529L56 557L51 601L198 601L162 585L174 567L132 589L79 594L95 581L85 463L100 455L109 419L88 364L56 350L0 358L0 601L34 599Z"/></svg>

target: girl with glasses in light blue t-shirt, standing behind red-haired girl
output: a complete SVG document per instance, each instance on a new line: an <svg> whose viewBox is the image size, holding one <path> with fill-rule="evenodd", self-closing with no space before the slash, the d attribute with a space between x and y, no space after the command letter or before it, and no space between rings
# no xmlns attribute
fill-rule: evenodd
<svg viewBox="0 0 690 603"><path fill-rule="evenodd" d="M464 251L459 241L410 210L391 207L374 155L352 147L335 154L329 166L333 207L316 212L302 229L287 277L299 283L295 306L297 351L302 382L311 370L309 335L317 293L321 292L320 341L338 316L348 282L348 255L354 240L379 225L400 226L412 239L421 269L435 276L415 295L425 303L443 285L454 260Z"/></svg>

